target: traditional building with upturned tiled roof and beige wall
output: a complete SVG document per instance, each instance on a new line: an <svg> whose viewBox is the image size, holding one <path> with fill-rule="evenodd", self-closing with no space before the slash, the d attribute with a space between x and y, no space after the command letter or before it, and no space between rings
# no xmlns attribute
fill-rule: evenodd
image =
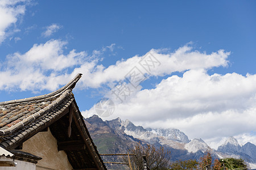
<svg viewBox="0 0 256 170"><path fill-rule="evenodd" d="M72 89L0 103L1 169L106 169Z"/></svg>

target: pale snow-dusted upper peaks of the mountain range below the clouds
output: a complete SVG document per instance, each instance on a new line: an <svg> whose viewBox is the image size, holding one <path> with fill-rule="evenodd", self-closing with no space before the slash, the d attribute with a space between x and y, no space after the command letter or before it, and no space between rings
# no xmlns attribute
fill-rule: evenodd
<svg viewBox="0 0 256 170"><path fill-rule="evenodd" d="M122 131L123 134L130 135L135 139L157 146L185 150L192 154L198 151L204 153L211 150L213 154L219 155L220 158L232 156L234 158L245 158L251 162L255 160L256 162L256 146L252 143L246 143L246 145L241 147L234 137L226 139L226 141L218 147L218 150L214 151L203 139L193 139L190 141L187 135L179 129L144 129L142 126L135 126L133 122L129 120L122 121L120 118L106 121L106 124L112 129Z"/></svg>

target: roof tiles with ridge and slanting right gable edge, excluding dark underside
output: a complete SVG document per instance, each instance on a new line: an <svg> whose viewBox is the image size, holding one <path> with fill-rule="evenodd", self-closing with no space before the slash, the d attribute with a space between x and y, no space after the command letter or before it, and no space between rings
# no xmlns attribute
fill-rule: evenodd
<svg viewBox="0 0 256 170"><path fill-rule="evenodd" d="M52 122L55 124L55 121L71 104L73 108L75 99L72 88L75 87L80 77L81 74L78 74L66 86L47 95L0 102L0 146L13 149L40 130L47 128ZM86 128L85 124L83 125L81 122L81 117L79 124ZM86 133L84 135L89 135L88 130L82 129L82 131ZM99 167L103 165L102 169L106 169L92 139L89 137L89 141L86 140L86 142L90 142L89 146L93 148L93 157L97 158L97 163L95 163L99 163ZM83 156L81 152L78 152L77 155Z"/></svg>

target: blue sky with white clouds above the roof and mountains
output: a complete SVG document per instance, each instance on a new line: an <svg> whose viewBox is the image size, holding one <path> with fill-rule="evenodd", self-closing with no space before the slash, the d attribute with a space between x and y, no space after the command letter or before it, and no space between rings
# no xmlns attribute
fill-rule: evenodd
<svg viewBox="0 0 256 170"><path fill-rule="evenodd" d="M113 99L109 119L177 128L213 147L231 135L256 144L250 122L256 111L255 6L255 1L1 0L0 100L49 93L81 72L74 94L88 117L150 52L159 67L125 102Z"/></svg>

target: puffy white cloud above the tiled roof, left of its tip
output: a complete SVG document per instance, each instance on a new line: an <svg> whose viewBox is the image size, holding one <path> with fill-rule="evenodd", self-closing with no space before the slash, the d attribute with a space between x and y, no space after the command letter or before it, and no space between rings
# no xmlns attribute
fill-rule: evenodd
<svg viewBox="0 0 256 170"><path fill-rule="evenodd" d="M60 40L49 40L45 44L35 44L24 54L17 52L7 56L0 68L0 90L55 90L67 82L65 80L71 75L60 71L79 65L86 54L75 50L64 54L66 44Z"/></svg>

